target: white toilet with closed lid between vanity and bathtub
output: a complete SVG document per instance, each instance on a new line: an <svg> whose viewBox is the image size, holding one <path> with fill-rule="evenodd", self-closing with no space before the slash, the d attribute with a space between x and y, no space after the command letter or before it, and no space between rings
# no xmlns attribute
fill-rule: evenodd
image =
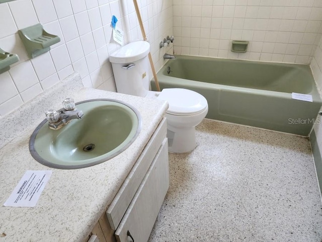
<svg viewBox="0 0 322 242"><path fill-rule="evenodd" d="M135 41L122 46L110 55L110 62L119 93L156 98L169 103L166 112L169 151L185 153L197 146L195 127L208 112L208 103L201 94L183 88L149 91L150 44Z"/></svg>

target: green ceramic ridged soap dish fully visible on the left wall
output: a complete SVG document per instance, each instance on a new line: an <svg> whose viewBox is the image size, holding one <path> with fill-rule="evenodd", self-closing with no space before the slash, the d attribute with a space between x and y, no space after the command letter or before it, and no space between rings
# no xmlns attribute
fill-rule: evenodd
<svg viewBox="0 0 322 242"><path fill-rule="evenodd" d="M41 24L20 29L18 33L30 58L49 51L51 45L60 41L57 35L47 33Z"/></svg>

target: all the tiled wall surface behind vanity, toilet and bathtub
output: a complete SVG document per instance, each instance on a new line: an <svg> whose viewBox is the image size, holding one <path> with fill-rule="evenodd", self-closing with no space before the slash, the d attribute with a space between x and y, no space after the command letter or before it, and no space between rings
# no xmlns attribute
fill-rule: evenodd
<svg viewBox="0 0 322 242"><path fill-rule="evenodd" d="M321 0L138 0L138 4L156 70L165 63L163 54L173 50L255 61L312 61L320 85L316 70L322 70ZM112 40L112 15L125 32L125 43L142 38L132 0L0 4L0 47L20 57L10 71L0 75L0 117L73 72L81 74L86 87L115 91L109 54L120 46ZM50 52L30 59L17 31L37 23L61 41ZM175 36L174 46L158 48L167 35ZM249 40L248 52L231 52L234 39Z"/></svg>

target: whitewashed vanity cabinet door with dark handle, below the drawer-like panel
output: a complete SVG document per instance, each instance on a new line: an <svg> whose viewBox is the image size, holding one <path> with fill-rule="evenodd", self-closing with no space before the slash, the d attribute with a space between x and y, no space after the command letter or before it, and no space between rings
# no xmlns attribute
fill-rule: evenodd
<svg viewBox="0 0 322 242"><path fill-rule="evenodd" d="M168 188L169 159L166 138L115 232L117 241L147 241Z"/></svg>

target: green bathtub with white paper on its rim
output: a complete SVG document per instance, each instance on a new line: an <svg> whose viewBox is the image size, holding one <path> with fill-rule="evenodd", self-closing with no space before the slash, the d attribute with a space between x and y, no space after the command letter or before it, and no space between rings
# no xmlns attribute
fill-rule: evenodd
<svg viewBox="0 0 322 242"><path fill-rule="evenodd" d="M176 55L157 73L160 88L208 101L207 118L308 136L321 107L309 66ZM155 89L151 81L152 90ZM313 102L292 99L309 94Z"/></svg>

